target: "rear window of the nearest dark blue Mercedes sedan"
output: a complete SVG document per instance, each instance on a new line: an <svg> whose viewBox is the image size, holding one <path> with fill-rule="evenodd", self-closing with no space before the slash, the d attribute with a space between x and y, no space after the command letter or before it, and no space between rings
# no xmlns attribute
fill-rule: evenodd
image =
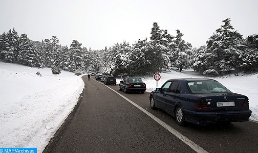
<svg viewBox="0 0 258 153"><path fill-rule="evenodd" d="M217 81L193 81L187 82L191 93L221 93L231 92Z"/></svg>

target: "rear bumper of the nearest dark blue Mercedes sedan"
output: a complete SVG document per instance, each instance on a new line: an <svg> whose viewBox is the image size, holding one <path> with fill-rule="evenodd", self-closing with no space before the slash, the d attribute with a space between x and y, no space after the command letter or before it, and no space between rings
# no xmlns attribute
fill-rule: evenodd
<svg viewBox="0 0 258 153"><path fill-rule="evenodd" d="M195 112L190 110L183 110L183 112L186 121L195 124L248 121L252 113L251 110L228 112Z"/></svg>

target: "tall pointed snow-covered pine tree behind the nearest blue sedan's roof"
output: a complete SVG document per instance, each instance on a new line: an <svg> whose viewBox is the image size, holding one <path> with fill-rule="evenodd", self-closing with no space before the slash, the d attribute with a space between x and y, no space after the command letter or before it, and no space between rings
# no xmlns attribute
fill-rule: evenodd
<svg viewBox="0 0 258 153"><path fill-rule="evenodd" d="M204 55L203 74L218 75L234 71L242 63L244 45L242 35L235 31L230 19L223 20L224 25L207 41Z"/></svg>

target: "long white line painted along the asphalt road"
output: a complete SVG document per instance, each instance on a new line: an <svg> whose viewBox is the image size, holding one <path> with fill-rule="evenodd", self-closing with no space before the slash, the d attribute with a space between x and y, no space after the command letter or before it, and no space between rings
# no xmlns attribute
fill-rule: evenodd
<svg viewBox="0 0 258 153"><path fill-rule="evenodd" d="M95 80L96 81L96 80ZM98 82L98 81L96 81ZM98 82L100 83L100 82ZM100 83L102 84L102 83ZM104 84L102 84L104 85ZM104 85L106 86L106 85ZM120 94L119 92L115 91L114 89L110 88L109 86L106 86L107 88L111 89L112 91L114 91L115 93L117 93L118 95L120 95L122 98L124 98L125 100L127 100L129 103L133 104L135 107L137 107L139 110L141 110L142 112L144 112L146 115L148 115L150 118L154 119L157 123L159 123L161 126L163 126L166 130L168 130L171 134L173 134L174 136L176 136L178 139L180 139L181 141L183 141L185 144L187 144L189 147L191 147L193 150L195 150L196 152L200 152L200 153L207 153L208 151L204 150L202 147L200 147L198 144L196 144L195 142L192 142L190 139L186 138L184 135L182 135L181 133L179 133L177 130L175 130L173 127L169 126L167 123L165 123L164 121L162 121L161 119L159 119L158 117L154 116L153 114L149 113L148 111L146 111L145 109L143 109L142 107L140 107L139 105L137 105L136 103L134 103L134 101L126 98L125 96L123 96L122 94Z"/></svg>

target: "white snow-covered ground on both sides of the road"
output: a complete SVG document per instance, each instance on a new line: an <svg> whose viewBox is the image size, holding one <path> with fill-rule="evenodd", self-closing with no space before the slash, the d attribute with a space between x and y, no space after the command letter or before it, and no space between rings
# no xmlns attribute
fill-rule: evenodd
<svg viewBox="0 0 258 153"><path fill-rule="evenodd" d="M232 92L247 95L253 111L250 119L258 121L257 77L256 73L213 79ZM203 77L191 70L164 72L158 87L172 78ZM144 82L147 91L155 90L157 82L152 77ZM0 147L36 147L42 152L73 110L83 87L81 76L74 73L61 71L55 76L50 68L0 62Z"/></svg>

